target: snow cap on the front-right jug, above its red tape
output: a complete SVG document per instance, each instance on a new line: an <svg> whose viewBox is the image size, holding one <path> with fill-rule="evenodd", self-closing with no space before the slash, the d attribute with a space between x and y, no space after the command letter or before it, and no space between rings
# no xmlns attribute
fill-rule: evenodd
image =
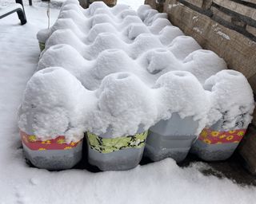
<svg viewBox="0 0 256 204"><path fill-rule="evenodd" d="M254 95L250 84L242 73L223 70L206 80L206 90L210 91L212 108L209 118L211 123L220 118L224 120L222 129L238 129L239 124L247 127L254 112Z"/></svg>

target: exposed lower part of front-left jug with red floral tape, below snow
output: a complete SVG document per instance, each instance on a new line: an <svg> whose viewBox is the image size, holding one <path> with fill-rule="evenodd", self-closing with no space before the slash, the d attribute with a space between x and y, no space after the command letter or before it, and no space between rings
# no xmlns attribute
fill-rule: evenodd
<svg viewBox="0 0 256 204"><path fill-rule="evenodd" d="M63 136L40 141L35 135L21 131L22 146L26 159L38 168L65 170L74 167L82 159L82 140L66 143Z"/></svg>

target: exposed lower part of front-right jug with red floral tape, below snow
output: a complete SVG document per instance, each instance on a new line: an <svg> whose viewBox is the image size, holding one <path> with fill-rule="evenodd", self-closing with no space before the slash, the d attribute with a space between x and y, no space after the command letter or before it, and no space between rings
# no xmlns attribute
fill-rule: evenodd
<svg viewBox="0 0 256 204"><path fill-rule="evenodd" d="M194 143L191 152L206 161L226 160L233 155L238 144L246 133L245 124L237 121L237 127L224 131L225 120L218 120L210 128L205 128Z"/></svg>

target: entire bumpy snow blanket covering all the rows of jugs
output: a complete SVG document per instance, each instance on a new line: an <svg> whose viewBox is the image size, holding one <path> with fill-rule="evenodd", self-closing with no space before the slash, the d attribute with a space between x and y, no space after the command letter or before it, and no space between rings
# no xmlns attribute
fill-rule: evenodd
<svg viewBox="0 0 256 204"><path fill-rule="evenodd" d="M19 128L40 139L78 141L84 131L109 128L112 137L134 135L174 112L197 120L197 134L224 113L226 129L241 114L249 123L254 104L246 78L223 70L222 58L166 18L150 6L135 12L94 2L83 10L65 2L54 26L38 32L46 49L27 84ZM246 102L233 96L239 91Z"/></svg>

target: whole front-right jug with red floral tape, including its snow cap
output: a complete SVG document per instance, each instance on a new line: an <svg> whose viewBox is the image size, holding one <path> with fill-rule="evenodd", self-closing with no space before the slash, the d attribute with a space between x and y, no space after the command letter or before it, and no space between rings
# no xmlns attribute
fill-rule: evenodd
<svg viewBox="0 0 256 204"><path fill-rule="evenodd" d="M250 124L253 91L246 77L234 70L222 70L210 77L204 88L213 101L212 112L218 112L219 119L202 131L191 152L206 161L225 160L234 153Z"/></svg>

